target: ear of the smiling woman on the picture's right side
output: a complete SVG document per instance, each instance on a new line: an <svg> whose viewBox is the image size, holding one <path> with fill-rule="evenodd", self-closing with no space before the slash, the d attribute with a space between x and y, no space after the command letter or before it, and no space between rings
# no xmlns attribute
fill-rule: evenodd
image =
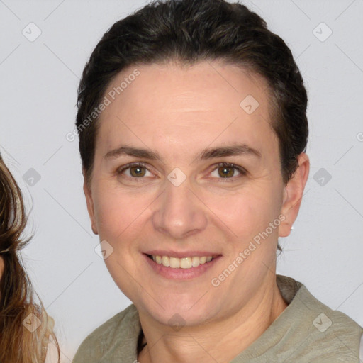
<svg viewBox="0 0 363 363"><path fill-rule="evenodd" d="M281 214L285 219L279 226L279 237L287 237L291 232L291 227L298 216L301 200L303 199L303 190L308 180L309 169L308 155L305 152L301 152L298 155L298 168L284 189Z"/></svg>

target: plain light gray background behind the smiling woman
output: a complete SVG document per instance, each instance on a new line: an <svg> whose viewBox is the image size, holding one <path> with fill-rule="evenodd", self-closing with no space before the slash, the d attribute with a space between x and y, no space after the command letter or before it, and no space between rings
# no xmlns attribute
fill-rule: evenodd
<svg viewBox="0 0 363 363"><path fill-rule="evenodd" d="M35 237L24 262L55 319L64 362L130 303L94 252L99 240L86 212L78 144L66 134L74 129L77 86L91 50L143 4L0 1L0 150L27 205L33 203L28 232ZM277 272L363 325L363 1L245 4L289 45L309 96L311 174L294 230L281 240ZM33 42L22 33L36 34L31 22L42 32ZM326 40L322 22L333 31ZM40 175L33 185L23 180L30 168ZM325 174L315 181L319 170Z"/></svg>

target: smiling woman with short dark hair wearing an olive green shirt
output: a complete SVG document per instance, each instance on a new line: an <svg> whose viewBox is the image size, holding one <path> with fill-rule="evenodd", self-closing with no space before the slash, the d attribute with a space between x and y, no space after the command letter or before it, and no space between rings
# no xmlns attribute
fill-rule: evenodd
<svg viewBox="0 0 363 363"><path fill-rule="evenodd" d="M291 50L241 4L155 1L82 74L84 193L133 302L74 363L358 362L362 327L276 274L308 179Z"/></svg>

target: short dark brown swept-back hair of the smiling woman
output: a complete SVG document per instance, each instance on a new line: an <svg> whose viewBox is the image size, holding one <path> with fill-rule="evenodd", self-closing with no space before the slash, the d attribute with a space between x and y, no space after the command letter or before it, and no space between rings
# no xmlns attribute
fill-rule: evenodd
<svg viewBox="0 0 363 363"><path fill-rule="evenodd" d="M281 174L285 183L289 181L308 140L303 79L284 40L246 6L224 0L155 1L117 21L104 34L84 68L78 90L76 127L87 179L91 179L98 123L97 118L86 128L82 123L100 104L108 84L130 65L169 60L188 64L225 60L267 80Z"/></svg>

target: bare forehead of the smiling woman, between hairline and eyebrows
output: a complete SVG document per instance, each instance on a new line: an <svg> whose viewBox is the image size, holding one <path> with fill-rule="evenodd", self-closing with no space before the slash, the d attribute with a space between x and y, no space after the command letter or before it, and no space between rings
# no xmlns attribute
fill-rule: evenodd
<svg viewBox="0 0 363 363"><path fill-rule="evenodd" d="M106 90L96 149L125 142L170 151L213 142L277 148L267 90L262 77L216 61L128 67Z"/></svg>

